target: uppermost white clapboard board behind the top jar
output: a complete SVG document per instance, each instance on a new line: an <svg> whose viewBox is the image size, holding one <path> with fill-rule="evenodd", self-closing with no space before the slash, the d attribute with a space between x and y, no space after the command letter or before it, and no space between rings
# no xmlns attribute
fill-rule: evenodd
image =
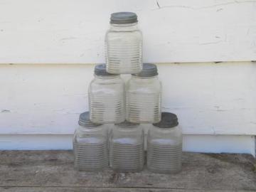
<svg viewBox="0 0 256 192"><path fill-rule="evenodd" d="M102 63L115 11L138 14L145 62L256 60L255 0L0 0L0 63Z"/></svg>

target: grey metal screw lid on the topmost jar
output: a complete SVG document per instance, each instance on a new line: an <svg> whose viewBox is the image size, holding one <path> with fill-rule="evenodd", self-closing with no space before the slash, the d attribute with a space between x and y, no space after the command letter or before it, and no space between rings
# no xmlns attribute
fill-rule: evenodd
<svg viewBox="0 0 256 192"><path fill-rule="evenodd" d="M129 24L137 23L137 14L132 12L117 12L111 14L110 23L112 24Z"/></svg>

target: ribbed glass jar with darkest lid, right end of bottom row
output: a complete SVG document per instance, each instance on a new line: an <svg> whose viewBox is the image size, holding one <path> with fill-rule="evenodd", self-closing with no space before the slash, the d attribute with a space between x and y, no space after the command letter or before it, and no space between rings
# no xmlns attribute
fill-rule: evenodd
<svg viewBox="0 0 256 192"><path fill-rule="evenodd" d="M147 167L159 174L181 171L182 132L176 114L163 112L147 135Z"/></svg>

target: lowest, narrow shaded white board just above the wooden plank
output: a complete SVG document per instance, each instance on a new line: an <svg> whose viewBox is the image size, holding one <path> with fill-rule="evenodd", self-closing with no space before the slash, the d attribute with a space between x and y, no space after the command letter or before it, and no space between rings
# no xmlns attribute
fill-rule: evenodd
<svg viewBox="0 0 256 192"><path fill-rule="evenodd" d="M73 149L72 139L72 134L0 134L0 150ZM252 136L183 135L183 151L255 156L255 140Z"/></svg>

